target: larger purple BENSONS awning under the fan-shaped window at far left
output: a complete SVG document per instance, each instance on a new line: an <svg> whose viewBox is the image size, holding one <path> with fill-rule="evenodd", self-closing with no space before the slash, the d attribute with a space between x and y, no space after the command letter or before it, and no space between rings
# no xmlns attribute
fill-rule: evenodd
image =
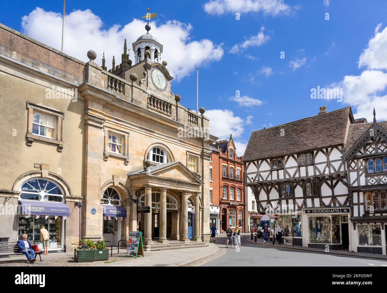
<svg viewBox="0 0 387 293"><path fill-rule="evenodd" d="M19 204L20 215L70 216L70 209L65 203L20 200Z"/></svg>

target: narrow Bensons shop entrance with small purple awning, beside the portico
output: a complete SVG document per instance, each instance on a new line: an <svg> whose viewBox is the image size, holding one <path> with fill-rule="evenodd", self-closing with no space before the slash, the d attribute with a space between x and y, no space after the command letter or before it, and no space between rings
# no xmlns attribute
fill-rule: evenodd
<svg viewBox="0 0 387 293"><path fill-rule="evenodd" d="M118 245L121 237L122 221L126 218L123 206L103 205L103 238L113 246Z"/></svg>

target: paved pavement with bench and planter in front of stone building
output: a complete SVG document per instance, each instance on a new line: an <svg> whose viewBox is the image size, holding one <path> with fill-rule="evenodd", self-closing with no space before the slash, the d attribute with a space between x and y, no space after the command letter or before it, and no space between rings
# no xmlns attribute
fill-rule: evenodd
<svg viewBox="0 0 387 293"><path fill-rule="evenodd" d="M158 250L145 252L145 257L125 257L125 250L120 249L120 254L113 250L113 257L108 261L95 262L75 262L73 253L50 253L47 256L42 255L43 261L39 257L34 264L27 262L25 256L14 256L0 258L0 266L189 266L192 262L208 259L215 256L221 249L215 244L206 247L196 247L175 250Z"/></svg>

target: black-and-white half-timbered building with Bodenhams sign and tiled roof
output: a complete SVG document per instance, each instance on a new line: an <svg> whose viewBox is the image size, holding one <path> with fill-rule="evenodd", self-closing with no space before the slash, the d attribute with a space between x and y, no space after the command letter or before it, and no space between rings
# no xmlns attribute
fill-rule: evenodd
<svg viewBox="0 0 387 293"><path fill-rule="evenodd" d="M351 107L253 131L243 161L259 213L278 214L284 243L354 250L346 153ZM274 218L271 218L274 229Z"/></svg>

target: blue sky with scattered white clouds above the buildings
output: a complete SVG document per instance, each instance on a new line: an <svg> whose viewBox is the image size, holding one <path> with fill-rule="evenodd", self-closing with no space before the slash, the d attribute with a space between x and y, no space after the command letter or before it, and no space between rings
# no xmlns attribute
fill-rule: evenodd
<svg viewBox="0 0 387 293"><path fill-rule="evenodd" d="M87 50L94 49L101 63L106 51L111 68L110 56L121 55L123 38L131 44L146 32L140 17L149 5L159 14L151 33L175 73L173 92L195 109L199 66L199 107L213 121L211 134L223 139L233 133L238 155L251 131L315 115L324 105L328 111L351 105L355 118L369 121L375 106L378 120L387 119L385 1L113 3L67 1L65 53L87 61ZM3 2L0 22L60 49L62 22L54 16L62 10L62 1ZM342 102L311 99L311 89L332 85L344 89Z"/></svg>

